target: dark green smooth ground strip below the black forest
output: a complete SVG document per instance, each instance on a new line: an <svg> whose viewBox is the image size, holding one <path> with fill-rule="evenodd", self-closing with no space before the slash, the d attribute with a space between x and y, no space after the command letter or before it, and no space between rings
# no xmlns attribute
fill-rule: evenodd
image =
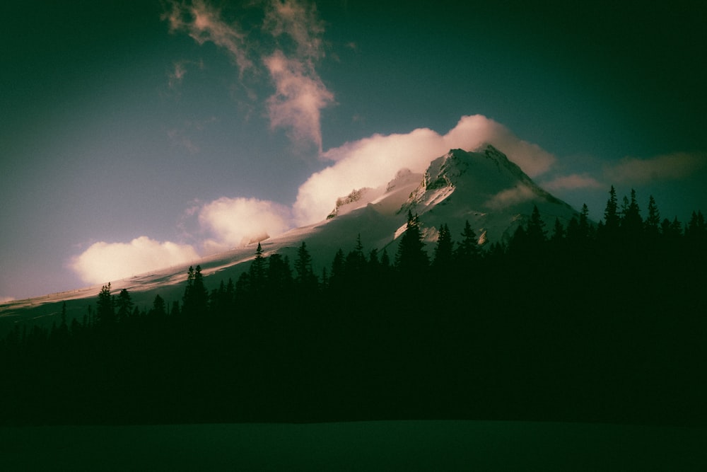
<svg viewBox="0 0 707 472"><path fill-rule="evenodd" d="M3 471L703 471L707 430L558 422L0 428Z"/></svg>

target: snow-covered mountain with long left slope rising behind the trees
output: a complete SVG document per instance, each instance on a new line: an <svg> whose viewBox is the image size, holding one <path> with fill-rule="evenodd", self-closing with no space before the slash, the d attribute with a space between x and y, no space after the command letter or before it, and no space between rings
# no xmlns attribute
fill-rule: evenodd
<svg viewBox="0 0 707 472"><path fill-rule="evenodd" d="M437 228L448 224L452 239L459 238L464 222L469 221L479 243L507 242L515 229L530 218L537 205L547 229L558 218L564 226L577 214L570 205L536 185L506 154L491 144L474 151L451 149L431 161L425 173L401 169L380 188L354 189L332 202L332 212L322 221L303 226L261 241L264 255L281 253L291 261L305 242L315 273L321 275L334 254L341 248L354 248L360 234L364 251L387 250L392 258L397 238L404 232L407 213L419 215L423 236L431 253ZM255 243L194 261L200 264L206 286L215 288L221 280L238 276L250 265ZM149 307L156 294L167 301L181 300L187 267L170 267L144 275L112 282L112 289L126 288L137 306ZM61 310L58 301L67 303L69 316L86 313L86 299L95 299L100 287L86 287L71 292L36 299L14 301L0 307L1 321L13 315L56 320ZM1 326L0 326L1 330Z"/></svg>

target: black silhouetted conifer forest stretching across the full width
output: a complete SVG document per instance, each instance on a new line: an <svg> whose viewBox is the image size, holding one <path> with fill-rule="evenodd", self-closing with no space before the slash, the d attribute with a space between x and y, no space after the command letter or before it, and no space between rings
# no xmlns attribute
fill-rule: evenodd
<svg viewBox="0 0 707 472"><path fill-rule="evenodd" d="M707 425L707 227L612 187L599 224L537 207L508 244L468 221L397 252L359 235L316 275L258 245L238 280L0 345L0 424L494 419ZM353 237L353 235L352 235ZM316 248L314 248L316 250Z"/></svg>

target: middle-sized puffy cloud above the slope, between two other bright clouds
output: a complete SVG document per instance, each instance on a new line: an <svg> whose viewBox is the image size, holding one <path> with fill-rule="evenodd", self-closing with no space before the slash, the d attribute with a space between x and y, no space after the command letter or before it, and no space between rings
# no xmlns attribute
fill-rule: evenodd
<svg viewBox="0 0 707 472"><path fill-rule="evenodd" d="M290 229L291 210L266 200L221 197L201 207L199 224L213 236L204 242L206 252L223 251Z"/></svg>

